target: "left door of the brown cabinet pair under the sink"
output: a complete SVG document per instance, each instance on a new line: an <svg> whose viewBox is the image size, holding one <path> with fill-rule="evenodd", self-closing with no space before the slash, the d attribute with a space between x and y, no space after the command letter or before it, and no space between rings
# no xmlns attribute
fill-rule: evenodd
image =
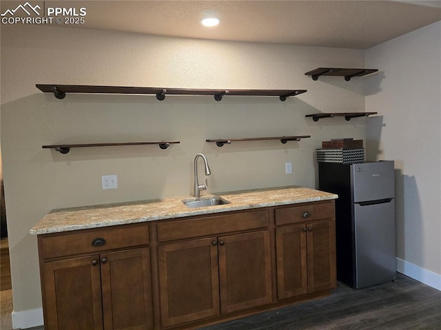
<svg viewBox="0 0 441 330"><path fill-rule="evenodd" d="M163 327L219 314L216 238L158 247Z"/></svg>

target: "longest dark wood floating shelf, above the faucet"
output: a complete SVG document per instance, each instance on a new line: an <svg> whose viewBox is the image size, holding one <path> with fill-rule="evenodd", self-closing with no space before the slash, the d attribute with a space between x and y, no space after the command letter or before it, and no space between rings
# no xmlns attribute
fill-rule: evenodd
<svg viewBox="0 0 441 330"><path fill-rule="evenodd" d="M93 93L93 94L149 94L156 95L156 99L163 101L165 95L211 95L216 101L222 100L225 95L232 96L278 96L285 101L289 96L297 96L307 90L196 90L180 88L157 87L122 87L122 86L94 86L94 85L35 85L45 93L54 93L57 99L64 99L66 93Z"/></svg>

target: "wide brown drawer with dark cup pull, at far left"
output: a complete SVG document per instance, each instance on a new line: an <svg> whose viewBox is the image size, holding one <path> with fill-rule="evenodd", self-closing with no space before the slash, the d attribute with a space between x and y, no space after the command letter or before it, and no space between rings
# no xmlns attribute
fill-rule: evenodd
<svg viewBox="0 0 441 330"><path fill-rule="evenodd" d="M94 246L96 239L105 240L104 245ZM74 234L49 234L39 238L40 254L43 258L57 258L72 254L97 253L110 249L121 249L149 243L149 227L127 225L105 229L85 229Z"/></svg>

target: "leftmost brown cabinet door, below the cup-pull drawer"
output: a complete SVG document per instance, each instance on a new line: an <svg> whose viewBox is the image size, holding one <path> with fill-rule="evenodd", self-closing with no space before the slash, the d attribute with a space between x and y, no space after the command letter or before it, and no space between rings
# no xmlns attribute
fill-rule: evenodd
<svg viewBox="0 0 441 330"><path fill-rule="evenodd" d="M103 329L99 256L43 264L46 330Z"/></svg>

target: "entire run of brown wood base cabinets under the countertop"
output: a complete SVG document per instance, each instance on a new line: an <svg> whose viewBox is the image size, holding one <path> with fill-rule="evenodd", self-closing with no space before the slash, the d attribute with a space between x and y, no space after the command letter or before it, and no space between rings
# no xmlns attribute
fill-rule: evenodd
<svg viewBox="0 0 441 330"><path fill-rule="evenodd" d="M334 200L38 236L45 330L196 329L329 295Z"/></svg>

